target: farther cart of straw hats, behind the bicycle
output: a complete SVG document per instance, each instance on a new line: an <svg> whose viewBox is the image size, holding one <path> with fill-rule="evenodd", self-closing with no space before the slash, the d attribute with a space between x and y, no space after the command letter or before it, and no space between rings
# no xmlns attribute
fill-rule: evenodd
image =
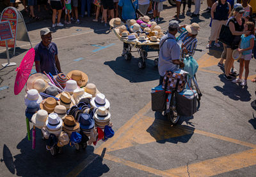
<svg viewBox="0 0 256 177"><path fill-rule="evenodd" d="M140 53L139 68L146 67L148 52L159 52L159 41L164 32L156 22L150 22L148 16L127 20L126 24L120 18L112 18L109 25L113 27L115 36L127 44L122 53L125 60L132 59L131 52ZM136 50L132 51L132 48ZM154 60L154 65L158 65L158 58Z"/></svg>

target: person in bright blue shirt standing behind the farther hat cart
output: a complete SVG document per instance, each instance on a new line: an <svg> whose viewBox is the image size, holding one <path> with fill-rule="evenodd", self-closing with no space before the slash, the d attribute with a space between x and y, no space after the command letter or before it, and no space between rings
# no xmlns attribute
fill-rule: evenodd
<svg viewBox="0 0 256 177"><path fill-rule="evenodd" d="M125 22L128 19L136 19L136 13L140 15L141 17L144 17L144 15L141 13L140 10L138 10L138 0L120 0L118 2L118 15L121 18L123 22ZM122 52L122 56L129 50L129 44L124 43L124 50Z"/></svg>

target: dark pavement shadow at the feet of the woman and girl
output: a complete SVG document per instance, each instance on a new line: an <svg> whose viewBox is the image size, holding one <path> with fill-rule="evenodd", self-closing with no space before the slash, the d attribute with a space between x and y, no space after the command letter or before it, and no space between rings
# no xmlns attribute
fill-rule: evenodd
<svg viewBox="0 0 256 177"><path fill-rule="evenodd" d="M241 87L237 85L236 83L232 83L231 81L225 80L223 77L223 74L219 75L220 81L224 83L223 88L220 86L214 86L214 88L221 92L224 96L230 97L230 99L234 99L235 101L250 101L251 100L251 94L247 90L246 87Z"/></svg>

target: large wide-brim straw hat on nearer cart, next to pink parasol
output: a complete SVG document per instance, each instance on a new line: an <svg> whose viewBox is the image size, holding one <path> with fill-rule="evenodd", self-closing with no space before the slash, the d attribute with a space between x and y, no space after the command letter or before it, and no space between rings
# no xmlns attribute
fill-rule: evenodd
<svg viewBox="0 0 256 177"><path fill-rule="evenodd" d="M38 92L44 92L44 90L49 87L48 82L49 78L45 76L45 74L42 73L35 73L29 76L27 81L27 88L30 89L36 89Z"/></svg>

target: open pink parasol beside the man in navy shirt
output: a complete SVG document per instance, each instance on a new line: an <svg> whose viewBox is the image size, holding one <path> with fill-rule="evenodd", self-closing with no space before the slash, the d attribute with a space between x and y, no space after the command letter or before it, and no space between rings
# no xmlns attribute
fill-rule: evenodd
<svg viewBox="0 0 256 177"><path fill-rule="evenodd" d="M16 79L14 84L14 94L17 95L20 93L24 85L26 84L31 69L33 67L35 59L35 50L34 48L30 48L29 51L26 53L22 61L20 62L20 66L17 67L16 71Z"/></svg>

